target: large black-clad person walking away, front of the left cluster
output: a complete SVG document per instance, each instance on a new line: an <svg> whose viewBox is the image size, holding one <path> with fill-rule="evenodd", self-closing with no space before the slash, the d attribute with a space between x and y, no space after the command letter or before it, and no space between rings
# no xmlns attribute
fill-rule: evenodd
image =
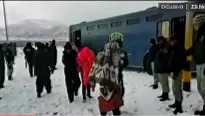
<svg viewBox="0 0 205 116"><path fill-rule="evenodd" d="M43 87L45 86L47 93L51 93L51 79L50 79L51 61L48 52L45 50L45 45L40 43L38 50L34 57L34 68L36 71L36 92L37 97L41 97Z"/></svg>

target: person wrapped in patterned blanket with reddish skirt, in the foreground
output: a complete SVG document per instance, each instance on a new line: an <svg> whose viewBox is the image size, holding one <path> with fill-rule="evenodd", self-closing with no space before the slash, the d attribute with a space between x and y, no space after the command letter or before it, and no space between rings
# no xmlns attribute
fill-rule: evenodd
<svg viewBox="0 0 205 116"><path fill-rule="evenodd" d="M128 57L127 53L122 49L122 41L123 36L118 39L111 38L109 43L105 45L104 50L98 53L93 65L94 67L100 65L100 67L104 68L99 69L103 70L109 66L114 67L115 76L106 73L106 71L97 77L97 73L102 72L97 68L93 68L90 73L90 76L95 78L92 79L93 82L90 80L90 83L97 82L100 85L98 106L101 116L105 116L109 111L112 111L114 116L121 115L120 107L124 105L125 88L122 71L128 66ZM112 69L111 67L110 70Z"/></svg>

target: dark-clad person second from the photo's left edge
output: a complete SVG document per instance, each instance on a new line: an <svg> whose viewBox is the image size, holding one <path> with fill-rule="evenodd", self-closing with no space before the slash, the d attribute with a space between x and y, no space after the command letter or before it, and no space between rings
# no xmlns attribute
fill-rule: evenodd
<svg viewBox="0 0 205 116"><path fill-rule="evenodd" d="M5 59L7 63L7 75L8 75L8 80L12 80L12 74L13 74L13 65L14 65L14 54L11 50L11 44L7 45L7 48L5 50Z"/></svg>

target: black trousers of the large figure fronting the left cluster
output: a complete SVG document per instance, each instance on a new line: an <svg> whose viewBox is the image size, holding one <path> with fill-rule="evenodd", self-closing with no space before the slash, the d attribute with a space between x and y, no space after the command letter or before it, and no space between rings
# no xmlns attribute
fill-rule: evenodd
<svg viewBox="0 0 205 116"><path fill-rule="evenodd" d="M36 92L39 94L42 93L44 86L45 86L47 92L51 91L52 86L51 86L50 76L37 76L37 78L36 78Z"/></svg>

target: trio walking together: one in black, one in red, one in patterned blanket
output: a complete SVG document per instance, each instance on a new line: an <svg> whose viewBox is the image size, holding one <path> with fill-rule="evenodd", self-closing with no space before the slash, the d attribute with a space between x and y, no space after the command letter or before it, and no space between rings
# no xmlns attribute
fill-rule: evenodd
<svg viewBox="0 0 205 116"><path fill-rule="evenodd" d="M86 46L67 42L62 57L70 103L74 101L74 96L78 95L80 73L83 102L86 101L86 97L92 98L91 89L94 91L96 83L99 83L98 102L102 116L109 111L112 111L113 115L120 115L120 107L124 104L125 89L122 70L128 65L128 57L123 50L123 37L113 38L109 38L109 42L97 56Z"/></svg>

